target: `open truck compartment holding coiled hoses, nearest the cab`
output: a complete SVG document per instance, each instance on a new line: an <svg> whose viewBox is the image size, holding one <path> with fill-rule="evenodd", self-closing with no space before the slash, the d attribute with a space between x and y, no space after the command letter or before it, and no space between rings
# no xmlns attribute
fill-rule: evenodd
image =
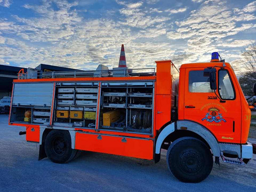
<svg viewBox="0 0 256 192"><path fill-rule="evenodd" d="M153 133L153 82L105 82L101 88L99 129Z"/></svg>

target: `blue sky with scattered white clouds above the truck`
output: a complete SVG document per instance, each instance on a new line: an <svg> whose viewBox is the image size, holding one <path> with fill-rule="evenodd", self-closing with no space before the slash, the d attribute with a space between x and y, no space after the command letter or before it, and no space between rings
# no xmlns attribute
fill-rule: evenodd
<svg viewBox="0 0 256 192"><path fill-rule="evenodd" d="M180 66L218 51L233 65L255 42L256 1L0 0L0 64L91 70L172 59Z"/></svg>

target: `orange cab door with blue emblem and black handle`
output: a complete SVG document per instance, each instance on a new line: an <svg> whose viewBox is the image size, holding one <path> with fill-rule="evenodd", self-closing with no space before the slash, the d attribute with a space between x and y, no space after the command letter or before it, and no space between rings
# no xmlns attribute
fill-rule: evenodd
<svg viewBox="0 0 256 192"><path fill-rule="evenodd" d="M204 125L219 142L240 143L241 102L233 77L228 70L217 69L215 93L203 71L204 68L186 69L184 119Z"/></svg>

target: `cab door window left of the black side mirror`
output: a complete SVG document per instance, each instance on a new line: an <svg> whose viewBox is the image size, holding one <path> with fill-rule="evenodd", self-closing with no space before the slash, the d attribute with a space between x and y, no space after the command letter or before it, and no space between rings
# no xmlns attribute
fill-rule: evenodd
<svg viewBox="0 0 256 192"><path fill-rule="evenodd" d="M212 93L209 77L204 77L204 71L189 71L188 89L191 93Z"/></svg>

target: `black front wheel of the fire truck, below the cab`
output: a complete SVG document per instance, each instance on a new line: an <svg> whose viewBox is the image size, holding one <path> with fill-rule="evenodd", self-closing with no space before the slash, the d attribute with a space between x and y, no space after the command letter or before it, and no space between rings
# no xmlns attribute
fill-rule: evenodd
<svg viewBox="0 0 256 192"><path fill-rule="evenodd" d="M203 181L210 174L214 163L208 146L193 137L175 140L166 156L170 172L182 182Z"/></svg>

